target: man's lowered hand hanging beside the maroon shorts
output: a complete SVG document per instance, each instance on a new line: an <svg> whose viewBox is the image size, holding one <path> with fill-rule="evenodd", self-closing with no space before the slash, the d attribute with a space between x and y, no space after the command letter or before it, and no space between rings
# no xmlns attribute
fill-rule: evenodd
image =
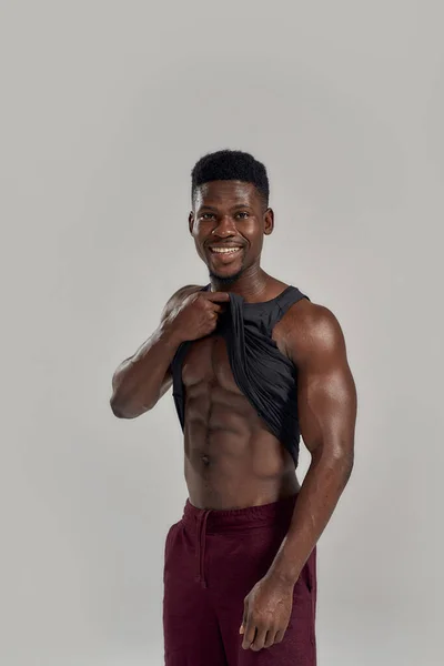
<svg viewBox="0 0 444 666"><path fill-rule="evenodd" d="M244 598L240 634L242 647L253 650L281 643L293 607L294 585L273 575L264 576Z"/></svg>

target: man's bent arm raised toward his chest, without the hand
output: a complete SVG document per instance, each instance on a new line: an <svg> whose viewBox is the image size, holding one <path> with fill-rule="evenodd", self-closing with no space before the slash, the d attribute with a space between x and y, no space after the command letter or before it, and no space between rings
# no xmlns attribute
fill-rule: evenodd
<svg viewBox="0 0 444 666"><path fill-rule="evenodd" d="M169 316L183 299L199 289L196 284L189 284L178 290L164 306L159 327L115 370L110 405L119 418L135 418L152 410L170 389L170 364L181 340L176 330L169 326Z"/></svg>

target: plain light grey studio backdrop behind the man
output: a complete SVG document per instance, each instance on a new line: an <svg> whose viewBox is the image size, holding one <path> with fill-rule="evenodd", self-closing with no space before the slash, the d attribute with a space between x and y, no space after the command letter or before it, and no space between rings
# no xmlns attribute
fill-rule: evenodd
<svg viewBox="0 0 444 666"><path fill-rule="evenodd" d="M1 664L163 663L182 434L171 392L115 418L111 376L208 282L190 171L221 148L265 163L262 265L335 313L359 391L320 666L443 663L443 20L441 0L1 2Z"/></svg>

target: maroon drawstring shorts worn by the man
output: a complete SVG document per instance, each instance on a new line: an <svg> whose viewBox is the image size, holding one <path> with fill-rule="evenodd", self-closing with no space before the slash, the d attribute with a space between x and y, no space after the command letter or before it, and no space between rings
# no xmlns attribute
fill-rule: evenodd
<svg viewBox="0 0 444 666"><path fill-rule="evenodd" d="M293 591L281 643L243 649L244 597L269 571L296 495L272 504L219 511L186 500L165 541L165 666L315 666L316 548Z"/></svg>

